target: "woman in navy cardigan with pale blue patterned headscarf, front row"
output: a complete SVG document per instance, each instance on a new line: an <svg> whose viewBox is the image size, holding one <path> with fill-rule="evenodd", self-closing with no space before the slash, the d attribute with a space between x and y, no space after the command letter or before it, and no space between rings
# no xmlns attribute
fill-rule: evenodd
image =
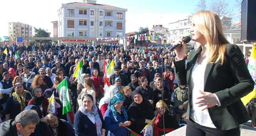
<svg viewBox="0 0 256 136"><path fill-rule="evenodd" d="M75 113L74 127L77 136L105 136L105 122L92 95L83 95L81 106Z"/></svg>

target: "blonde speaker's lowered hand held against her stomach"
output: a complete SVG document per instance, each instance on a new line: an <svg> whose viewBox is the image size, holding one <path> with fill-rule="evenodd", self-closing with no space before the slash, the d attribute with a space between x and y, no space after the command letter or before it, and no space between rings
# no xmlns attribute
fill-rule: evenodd
<svg viewBox="0 0 256 136"><path fill-rule="evenodd" d="M218 104L218 100L213 93L204 92L201 90L199 90L199 92L202 95L200 97L197 97L198 101L195 102L195 104L198 104L198 107L201 108L201 111L206 110L207 108L213 107L216 104Z"/></svg>

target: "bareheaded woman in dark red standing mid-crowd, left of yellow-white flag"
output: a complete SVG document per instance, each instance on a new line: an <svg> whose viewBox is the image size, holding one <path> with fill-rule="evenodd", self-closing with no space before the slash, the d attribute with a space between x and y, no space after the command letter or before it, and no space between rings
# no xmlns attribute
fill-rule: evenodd
<svg viewBox="0 0 256 136"><path fill-rule="evenodd" d="M99 99L99 101L101 100L102 97L104 97L104 89L103 89L103 79L99 76L99 71L98 69L93 69L92 70L92 83L95 87L95 91L96 91L96 100Z"/></svg>

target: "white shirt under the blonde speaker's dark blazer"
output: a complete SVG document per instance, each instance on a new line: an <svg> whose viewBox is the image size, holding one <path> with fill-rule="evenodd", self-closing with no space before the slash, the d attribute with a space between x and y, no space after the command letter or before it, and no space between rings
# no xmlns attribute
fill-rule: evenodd
<svg viewBox="0 0 256 136"><path fill-rule="evenodd" d="M210 118L208 109L201 111L201 107L198 107L198 104L195 104L197 102L197 97L201 96L199 90L204 91L204 72L207 65L207 59L204 59L201 64L195 63L195 66L192 69L191 74L191 89L192 89L192 101L191 101L191 110L190 110L190 117L192 120L194 120L196 123L216 128L215 125L212 122L212 119Z"/></svg>

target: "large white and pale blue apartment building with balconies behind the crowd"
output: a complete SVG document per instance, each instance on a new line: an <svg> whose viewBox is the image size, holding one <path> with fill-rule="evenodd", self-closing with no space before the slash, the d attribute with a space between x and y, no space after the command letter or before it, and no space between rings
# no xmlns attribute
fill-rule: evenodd
<svg viewBox="0 0 256 136"><path fill-rule="evenodd" d="M62 4L58 10L58 37L124 37L126 11L96 4L96 0Z"/></svg>

